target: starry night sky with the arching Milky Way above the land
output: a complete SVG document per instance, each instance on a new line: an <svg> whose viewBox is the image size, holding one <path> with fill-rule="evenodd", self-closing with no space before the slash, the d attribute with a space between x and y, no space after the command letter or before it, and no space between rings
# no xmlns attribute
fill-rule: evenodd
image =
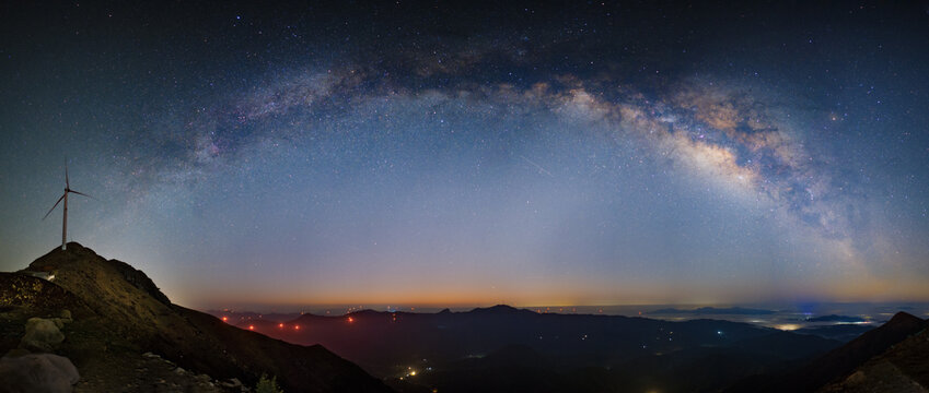
<svg viewBox="0 0 929 393"><path fill-rule="evenodd" d="M190 307L929 300L925 2L12 3L0 271L67 160Z"/></svg>

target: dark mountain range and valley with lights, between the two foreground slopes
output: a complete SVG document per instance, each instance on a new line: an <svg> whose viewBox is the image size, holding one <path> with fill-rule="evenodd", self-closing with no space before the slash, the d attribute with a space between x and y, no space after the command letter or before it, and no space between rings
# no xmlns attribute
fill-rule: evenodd
<svg viewBox="0 0 929 393"><path fill-rule="evenodd" d="M816 391L926 326L898 313L853 338L845 330L799 334L717 320L537 313L508 306L267 317L230 318L291 343L322 344L408 392ZM926 348L910 352L929 356ZM910 369L901 368L898 377L927 385L920 382L924 371Z"/></svg>

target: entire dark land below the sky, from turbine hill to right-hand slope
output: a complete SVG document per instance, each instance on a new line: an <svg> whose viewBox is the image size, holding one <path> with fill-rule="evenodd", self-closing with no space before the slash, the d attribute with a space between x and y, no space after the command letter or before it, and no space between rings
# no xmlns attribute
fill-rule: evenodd
<svg viewBox="0 0 929 393"><path fill-rule="evenodd" d="M24 271L0 273L0 392L36 391L23 388L30 378L61 389L51 391L244 392L263 374L275 376L286 392L927 392L929 386L927 321L903 312L860 335L508 306L230 319L237 327L217 317L223 315L173 305L142 272L69 243ZM26 364L56 371L15 372Z"/></svg>

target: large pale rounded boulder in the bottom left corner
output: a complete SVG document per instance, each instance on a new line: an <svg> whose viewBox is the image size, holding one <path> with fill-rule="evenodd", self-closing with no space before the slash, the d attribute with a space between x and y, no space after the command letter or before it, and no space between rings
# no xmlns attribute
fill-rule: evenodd
<svg viewBox="0 0 929 393"><path fill-rule="evenodd" d="M71 392L80 379L71 360L53 354L30 354L0 358L0 392Z"/></svg>

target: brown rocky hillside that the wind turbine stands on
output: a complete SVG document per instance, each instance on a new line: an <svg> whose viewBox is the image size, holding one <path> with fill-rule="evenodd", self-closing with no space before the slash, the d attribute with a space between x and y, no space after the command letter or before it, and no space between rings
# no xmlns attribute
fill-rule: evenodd
<svg viewBox="0 0 929 393"><path fill-rule="evenodd" d="M37 324L61 337L35 338ZM70 382L78 392L240 392L263 374L287 392L390 391L322 346L288 344L173 305L141 271L76 242L0 273L0 391L16 391L4 382L22 380L10 370L26 362L63 368L50 391Z"/></svg>

